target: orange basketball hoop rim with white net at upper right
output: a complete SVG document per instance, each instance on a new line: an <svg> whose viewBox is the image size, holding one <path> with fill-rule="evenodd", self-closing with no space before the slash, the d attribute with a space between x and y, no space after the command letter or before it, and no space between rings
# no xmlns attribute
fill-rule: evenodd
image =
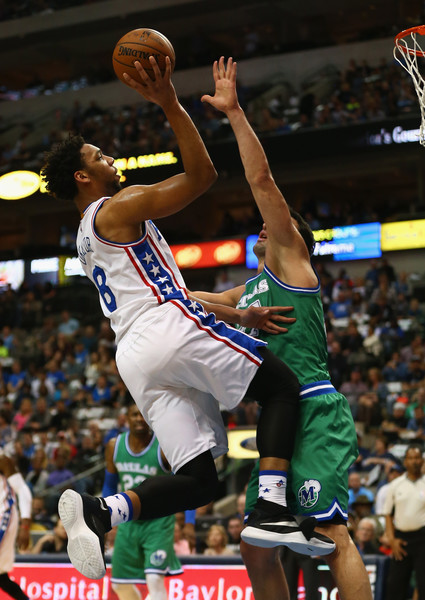
<svg viewBox="0 0 425 600"><path fill-rule="evenodd" d="M421 109L421 126L419 128L419 143L425 146L425 79L418 66L418 58L425 58L417 35L425 35L425 25L418 25L400 31L394 38L394 58L405 69L413 80L416 95Z"/></svg>

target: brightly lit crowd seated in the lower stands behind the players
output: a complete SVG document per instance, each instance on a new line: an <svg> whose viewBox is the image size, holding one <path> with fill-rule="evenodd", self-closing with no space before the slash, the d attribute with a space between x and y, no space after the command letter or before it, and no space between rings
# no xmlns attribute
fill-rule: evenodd
<svg viewBox="0 0 425 600"><path fill-rule="evenodd" d="M317 266L329 370L358 431L359 458L350 470L352 532L364 552L386 552L379 519L385 484L403 472L407 443L425 447L425 308L409 274L395 272L386 259L370 261L357 279L345 269L333 277L323 263ZM23 284L0 293L0 446L32 489L34 527L49 532L49 551L63 547L61 491L99 493L105 444L126 430L132 402L117 372L109 322L100 313L71 313L67 295L57 292L50 284ZM247 398L223 418L228 427L255 424L258 407ZM236 517L237 529L243 509L235 504L224 516L214 505L204 509L198 515L204 529L188 539L181 524L176 544L187 549L186 540L191 552L230 552L229 531L209 527L230 526L229 517Z"/></svg>

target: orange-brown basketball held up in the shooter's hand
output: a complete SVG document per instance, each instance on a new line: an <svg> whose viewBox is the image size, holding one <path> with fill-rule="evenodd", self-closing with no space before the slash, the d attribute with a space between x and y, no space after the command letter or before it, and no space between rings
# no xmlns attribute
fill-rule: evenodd
<svg viewBox="0 0 425 600"><path fill-rule="evenodd" d="M171 42L154 29L133 29L126 33L116 44L112 54L112 65L118 79L126 85L123 73L128 73L136 81L140 81L139 73L134 66L138 60L151 79L154 72L149 62L149 57L154 56L161 73L165 71L165 57L171 60L171 71L174 69L176 55Z"/></svg>

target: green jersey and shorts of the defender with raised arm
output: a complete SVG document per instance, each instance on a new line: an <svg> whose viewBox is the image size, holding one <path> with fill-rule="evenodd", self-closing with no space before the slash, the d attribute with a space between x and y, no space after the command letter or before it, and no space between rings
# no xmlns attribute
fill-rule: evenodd
<svg viewBox="0 0 425 600"><path fill-rule="evenodd" d="M347 399L329 381L320 286L290 286L267 267L245 286L238 308L293 306L293 316L297 319L288 326L288 333L281 335L247 331L268 342L269 349L294 371L301 386L308 388L300 399L297 435L288 473L289 507L294 514L314 516L319 521L344 522L348 506L348 468L357 456L357 438ZM321 385L315 388L315 383ZM246 493L247 513L254 508L257 494L258 461Z"/></svg>

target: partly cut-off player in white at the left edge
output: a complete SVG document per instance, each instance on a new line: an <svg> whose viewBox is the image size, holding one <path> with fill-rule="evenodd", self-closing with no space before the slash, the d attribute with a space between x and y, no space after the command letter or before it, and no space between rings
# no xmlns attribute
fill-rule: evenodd
<svg viewBox="0 0 425 600"><path fill-rule="evenodd" d="M16 600L28 600L28 596L8 573L15 562L16 540L20 548L28 547L31 502L31 491L12 459L0 454L0 589Z"/></svg>

